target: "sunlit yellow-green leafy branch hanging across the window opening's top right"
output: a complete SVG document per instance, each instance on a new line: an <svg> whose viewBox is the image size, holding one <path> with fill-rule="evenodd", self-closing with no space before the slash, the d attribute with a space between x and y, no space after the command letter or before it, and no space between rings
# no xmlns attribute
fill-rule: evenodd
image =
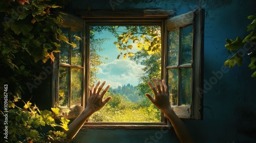
<svg viewBox="0 0 256 143"><path fill-rule="evenodd" d="M117 27L118 28L118 27ZM122 34L116 34L117 41L114 42L123 59L132 57L134 53L129 52L133 49L133 45L129 43L136 43L138 50L146 50L148 54L161 52L161 27L160 26L126 26ZM123 53L124 52L124 53Z"/></svg>

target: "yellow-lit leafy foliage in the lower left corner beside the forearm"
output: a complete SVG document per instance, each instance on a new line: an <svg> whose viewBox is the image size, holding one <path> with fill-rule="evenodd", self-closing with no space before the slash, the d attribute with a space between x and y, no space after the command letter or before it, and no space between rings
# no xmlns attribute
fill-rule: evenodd
<svg viewBox="0 0 256 143"><path fill-rule="evenodd" d="M62 131L49 130L44 133L44 128L61 127L68 130L69 120L60 117L60 124L55 123L58 117L59 109L52 108L53 112L48 110L39 110L36 105L32 106L29 101L24 102L24 107L20 108L9 101L8 114L8 141L9 142L71 142ZM40 133L39 133L40 132Z"/></svg>

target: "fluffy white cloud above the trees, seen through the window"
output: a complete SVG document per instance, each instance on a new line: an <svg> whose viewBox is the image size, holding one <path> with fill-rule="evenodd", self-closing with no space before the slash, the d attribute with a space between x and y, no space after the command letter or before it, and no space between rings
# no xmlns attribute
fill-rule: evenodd
<svg viewBox="0 0 256 143"><path fill-rule="evenodd" d="M128 83L136 86L139 76L144 74L143 67L143 65L138 65L129 59L114 60L110 63L101 64L97 77L101 81L105 80L113 88Z"/></svg>

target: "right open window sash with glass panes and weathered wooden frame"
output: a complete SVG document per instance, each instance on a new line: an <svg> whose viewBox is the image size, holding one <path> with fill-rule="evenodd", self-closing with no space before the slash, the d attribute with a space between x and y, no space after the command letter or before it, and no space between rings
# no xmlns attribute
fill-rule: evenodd
<svg viewBox="0 0 256 143"><path fill-rule="evenodd" d="M204 9L165 21L165 78L170 103L181 118L202 119Z"/></svg>

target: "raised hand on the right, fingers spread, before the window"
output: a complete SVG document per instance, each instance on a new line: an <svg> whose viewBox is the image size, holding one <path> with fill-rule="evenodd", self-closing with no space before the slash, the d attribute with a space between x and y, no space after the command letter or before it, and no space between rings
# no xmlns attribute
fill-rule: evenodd
<svg viewBox="0 0 256 143"><path fill-rule="evenodd" d="M163 112L168 112L173 110L170 107L169 95L168 95L168 88L164 80L160 80L157 78L152 77L153 82L155 83L156 87L148 81L148 85L150 85L151 89L155 94L155 99L151 96L151 94L146 93L145 95L151 100L151 102Z"/></svg>

